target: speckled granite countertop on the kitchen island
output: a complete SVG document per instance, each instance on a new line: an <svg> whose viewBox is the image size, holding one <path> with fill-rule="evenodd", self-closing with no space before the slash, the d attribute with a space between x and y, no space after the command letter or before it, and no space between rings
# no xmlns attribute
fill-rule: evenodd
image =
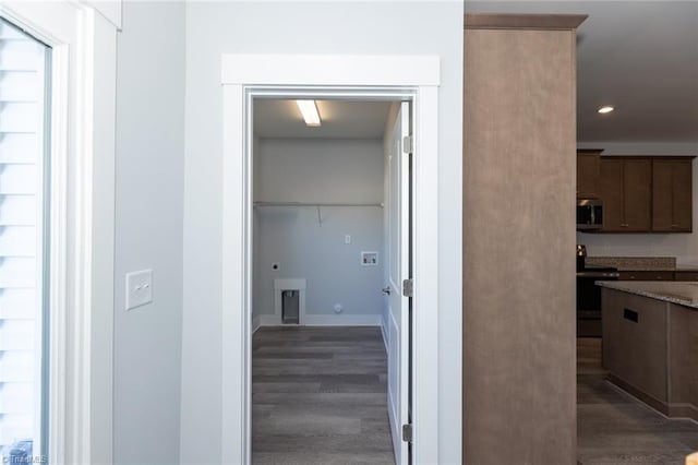
<svg viewBox="0 0 698 465"><path fill-rule="evenodd" d="M597 285L698 310L698 283L671 281L598 281Z"/></svg>

